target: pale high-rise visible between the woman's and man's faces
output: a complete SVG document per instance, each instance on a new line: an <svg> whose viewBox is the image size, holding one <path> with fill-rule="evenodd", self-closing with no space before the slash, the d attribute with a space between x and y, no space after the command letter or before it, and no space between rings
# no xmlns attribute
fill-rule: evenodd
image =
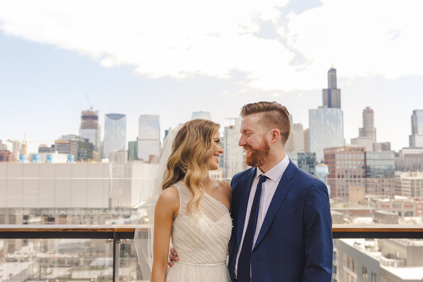
<svg viewBox="0 0 423 282"><path fill-rule="evenodd" d="M235 125L226 126L224 129L224 178L232 178L235 173L244 170L244 150L238 146L241 119L234 118L234 121Z"/></svg>

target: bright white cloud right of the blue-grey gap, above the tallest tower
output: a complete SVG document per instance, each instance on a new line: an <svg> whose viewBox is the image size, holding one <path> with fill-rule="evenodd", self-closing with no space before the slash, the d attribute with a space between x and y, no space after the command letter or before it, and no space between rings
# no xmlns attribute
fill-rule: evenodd
<svg viewBox="0 0 423 282"><path fill-rule="evenodd" d="M423 75L421 1L323 0L323 6L300 15L289 14L279 28L287 45L311 63L313 75L333 63L343 76L381 74L387 78ZM338 73L339 73L338 72Z"/></svg>

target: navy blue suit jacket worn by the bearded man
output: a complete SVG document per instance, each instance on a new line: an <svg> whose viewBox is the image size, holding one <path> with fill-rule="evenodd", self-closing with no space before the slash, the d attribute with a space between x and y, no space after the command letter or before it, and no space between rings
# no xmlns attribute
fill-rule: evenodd
<svg viewBox="0 0 423 282"><path fill-rule="evenodd" d="M232 279L255 174L256 168L251 168L232 178L228 263ZM251 252L251 281L330 282L332 252L328 188L290 160Z"/></svg>

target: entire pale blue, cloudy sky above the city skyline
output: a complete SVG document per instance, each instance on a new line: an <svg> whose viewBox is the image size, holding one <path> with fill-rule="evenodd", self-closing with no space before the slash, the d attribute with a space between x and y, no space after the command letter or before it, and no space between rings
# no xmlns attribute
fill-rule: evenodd
<svg viewBox="0 0 423 282"><path fill-rule="evenodd" d="M259 100L287 106L306 129L333 66L346 142L369 106L377 141L399 150L409 145L412 111L423 109L422 8L418 0L0 0L0 140L26 134L36 151L78 134L90 105L102 129L105 114L126 114L127 142L142 114L160 116L163 136L193 111L228 126Z"/></svg>

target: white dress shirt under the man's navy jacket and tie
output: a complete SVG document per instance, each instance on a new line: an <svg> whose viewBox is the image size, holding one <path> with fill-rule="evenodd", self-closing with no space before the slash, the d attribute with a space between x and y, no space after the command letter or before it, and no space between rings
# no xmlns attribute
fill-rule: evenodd
<svg viewBox="0 0 423 282"><path fill-rule="evenodd" d="M263 184L261 184L261 197L260 197L260 204L258 206L257 224L256 224L255 232L254 232L253 248L255 245L255 241L258 237L258 233L260 233L261 225L263 225L263 221L265 219L267 210L269 209L270 202L272 201L277 185L279 184L280 177L284 174L288 165L289 165L289 158L288 158L288 155L285 154L284 159L281 160L279 164L271 168L268 172L263 173L259 168L257 168L256 170L256 175L254 177L253 184L250 187L250 197L248 198L247 213L245 216L243 236L241 237L238 254L236 255L235 275L236 275L236 270L238 269L238 259L239 259L239 254L241 253L241 248L243 246L245 231L247 230L248 220L250 219L251 206L253 205L254 194L257 188L258 178L261 174L264 174L270 179L267 179Z"/></svg>

